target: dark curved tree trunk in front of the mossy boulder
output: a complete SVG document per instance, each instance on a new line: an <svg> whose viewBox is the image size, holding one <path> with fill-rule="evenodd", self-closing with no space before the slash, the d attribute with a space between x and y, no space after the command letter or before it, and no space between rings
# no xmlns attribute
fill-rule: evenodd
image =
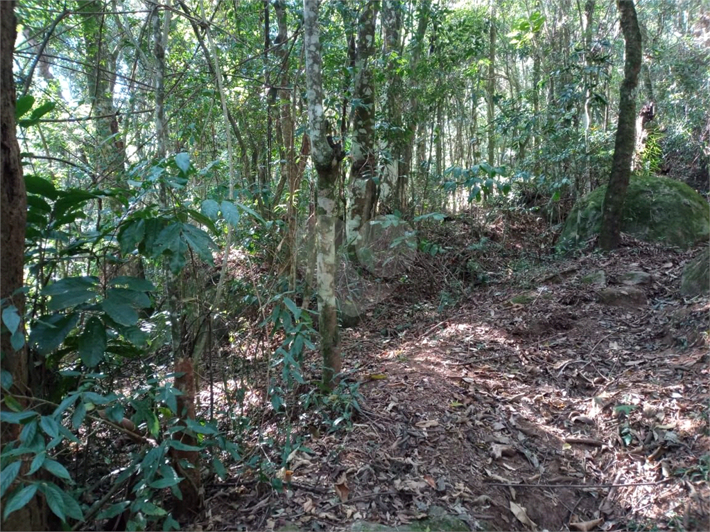
<svg viewBox="0 0 710 532"><path fill-rule="evenodd" d="M616 126L614 155L611 162L609 184L604 196L604 207L599 233L599 247L603 250L618 248L621 216L626 189L631 175L631 161L635 146L636 93L641 70L641 31L633 0L618 0L621 31L626 43L624 78L619 91L619 116Z"/></svg>

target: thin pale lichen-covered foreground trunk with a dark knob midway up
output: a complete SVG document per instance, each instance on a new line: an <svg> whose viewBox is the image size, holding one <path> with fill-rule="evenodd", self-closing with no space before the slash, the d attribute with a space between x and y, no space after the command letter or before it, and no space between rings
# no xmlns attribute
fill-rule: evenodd
<svg viewBox="0 0 710 532"><path fill-rule="evenodd" d="M318 0L303 0L303 44L306 60L308 124L311 158L318 174L317 204L317 293L320 314L320 351L323 357L323 387L337 384L342 361L335 298L335 208L342 145L329 137L323 115L323 81Z"/></svg>

